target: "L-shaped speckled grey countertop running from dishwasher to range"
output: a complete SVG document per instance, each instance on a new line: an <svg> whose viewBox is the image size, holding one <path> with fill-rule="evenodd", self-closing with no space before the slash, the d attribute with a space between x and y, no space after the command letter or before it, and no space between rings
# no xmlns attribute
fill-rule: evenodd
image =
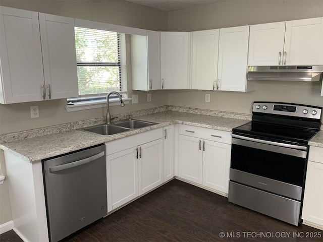
<svg viewBox="0 0 323 242"><path fill-rule="evenodd" d="M34 162L171 124L185 124L231 132L233 128L249 122L246 119L172 110L138 116L134 117L134 119L157 124L112 136L96 135L82 130L71 130L0 144L0 148L15 154L27 162Z"/></svg>

